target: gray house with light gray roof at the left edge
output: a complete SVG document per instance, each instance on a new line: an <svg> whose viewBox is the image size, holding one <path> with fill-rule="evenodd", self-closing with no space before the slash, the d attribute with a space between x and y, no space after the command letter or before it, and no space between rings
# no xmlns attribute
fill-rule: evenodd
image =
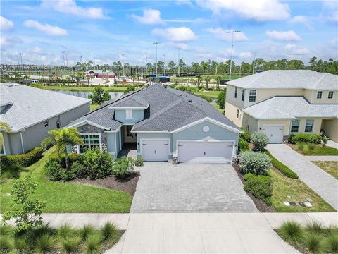
<svg viewBox="0 0 338 254"><path fill-rule="evenodd" d="M63 128L90 110L90 100L15 83L0 83L0 122L11 128L3 135L4 155L40 146L48 131Z"/></svg>

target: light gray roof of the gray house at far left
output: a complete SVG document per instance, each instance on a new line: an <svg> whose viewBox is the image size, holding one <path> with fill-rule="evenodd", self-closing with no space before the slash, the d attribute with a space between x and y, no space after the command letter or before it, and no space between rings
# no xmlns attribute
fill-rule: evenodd
<svg viewBox="0 0 338 254"><path fill-rule="evenodd" d="M90 102L89 99L61 92L14 83L0 83L0 101L1 104L8 102L8 106L1 111L0 121L7 123L13 132Z"/></svg>

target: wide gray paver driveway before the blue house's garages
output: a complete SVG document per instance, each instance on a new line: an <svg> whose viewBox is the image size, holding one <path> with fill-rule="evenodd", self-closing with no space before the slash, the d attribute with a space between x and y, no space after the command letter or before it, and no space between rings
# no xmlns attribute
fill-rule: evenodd
<svg viewBox="0 0 338 254"><path fill-rule="evenodd" d="M131 212L258 212L230 164L148 162Z"/></svg>

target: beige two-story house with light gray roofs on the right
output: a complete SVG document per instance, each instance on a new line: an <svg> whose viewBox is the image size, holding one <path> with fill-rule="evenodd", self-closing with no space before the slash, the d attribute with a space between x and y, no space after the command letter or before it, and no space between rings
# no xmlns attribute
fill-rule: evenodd
<svg viewBox="0 0 338 254"><path fill-rule="evenodd" d="M276 70L227 82L225 116L270 143L292 133L316 133L338 142L338 76L308 70Z"/></svg>

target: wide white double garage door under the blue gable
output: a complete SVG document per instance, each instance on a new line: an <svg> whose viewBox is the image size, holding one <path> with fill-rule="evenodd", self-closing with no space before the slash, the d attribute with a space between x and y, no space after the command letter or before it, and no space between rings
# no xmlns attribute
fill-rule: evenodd
<svg viewBox="0 0 338 254"><path fill-rule="evenodd" d="M232 141L179 141L178 162L232 162Z"/></svg>

